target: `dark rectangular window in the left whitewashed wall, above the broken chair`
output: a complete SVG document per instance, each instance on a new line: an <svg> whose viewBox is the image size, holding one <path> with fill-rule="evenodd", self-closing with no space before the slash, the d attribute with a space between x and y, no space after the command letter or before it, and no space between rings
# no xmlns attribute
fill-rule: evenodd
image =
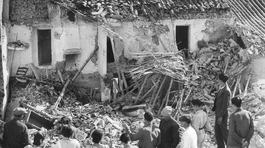
<svg viewBox="0 0 265 148"><path fill-rule="evenodd" d="M51 64L51 30L37 30L39 65Z"/></svg>

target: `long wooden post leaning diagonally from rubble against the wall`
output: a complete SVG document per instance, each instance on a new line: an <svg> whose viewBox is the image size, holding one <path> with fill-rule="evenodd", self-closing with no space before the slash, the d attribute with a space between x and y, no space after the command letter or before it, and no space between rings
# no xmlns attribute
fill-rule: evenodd
<svg viewBox="0 0 265 148"><path fill-rule="evenodd" d="M86 66L86 64L90 61L90 59L94 56L94 54L98 51L98 48L95 48L94 51L90 54L89 57L87 57L86 61L83 63L83 65L79 68L79 70L77 71L76 75L74 75L74 77L72 78L72 80L69 78L67 80L67 82L65 83L64 87L63 87L63 90L60 94L60 96L58 97L58 99L56 100L55 102L55 105L54 105L54 109L56 109L61 101L61 99L63 98L64 96L64 93L65 93L65 90L67 89L68 85L72 82L74 82L74 80L76 80L77 76L80 74L80 72L83 70L83 68Z"/></svg>

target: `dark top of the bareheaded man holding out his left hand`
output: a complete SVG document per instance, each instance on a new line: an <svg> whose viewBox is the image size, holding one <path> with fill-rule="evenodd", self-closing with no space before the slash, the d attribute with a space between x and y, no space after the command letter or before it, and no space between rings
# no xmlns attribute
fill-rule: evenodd
<svg viewBox="0 0 265 148"><path fill-rule="evenodd" d="M160 129L152 123L140 129L139 133L130 133L131 141L139 140L139 148L156 148L160 144Z"/></svg>

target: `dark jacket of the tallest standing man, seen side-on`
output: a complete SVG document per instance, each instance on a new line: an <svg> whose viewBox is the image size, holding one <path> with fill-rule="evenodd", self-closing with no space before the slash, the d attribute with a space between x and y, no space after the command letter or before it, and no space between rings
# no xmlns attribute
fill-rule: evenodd
<svg viewBox="0 0 265 148"><path fill-rule="evenodd" d="M228 107L229 101L231 98L231 90L226 84L224 88L219 90L218 94L214 99L214 107L212 109L215 112L215 121L217 121L218 117L223 117L224 115L228 116Z"/></svg>

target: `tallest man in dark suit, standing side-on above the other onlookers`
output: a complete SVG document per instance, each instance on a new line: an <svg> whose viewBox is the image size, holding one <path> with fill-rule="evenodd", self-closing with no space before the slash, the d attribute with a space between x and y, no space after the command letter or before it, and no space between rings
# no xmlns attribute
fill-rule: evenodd
<svg viewBox="0 0 265 148"><path fill-rule="evenodd" d="M212 111L215 112L214 131L218 148L225 147L228 137L228 107L231 98L231 90L227 85L227 80L227 74L220 73L218 75L218 84L221 86L221 89L215 97L214 107L212 109Z"/></svg>

